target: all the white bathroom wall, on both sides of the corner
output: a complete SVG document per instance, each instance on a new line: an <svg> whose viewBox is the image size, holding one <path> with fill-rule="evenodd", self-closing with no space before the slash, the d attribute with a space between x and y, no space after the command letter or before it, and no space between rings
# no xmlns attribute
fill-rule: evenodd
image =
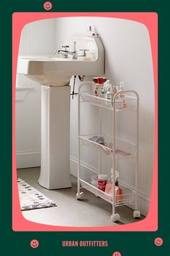
<svg viewBox="0 0 170 256"><path fill-rule="evenodd" d="M24 27L19 54L53 54L57 46L61 48L67 35L86 35L89 25L94 25L101 35L106 54L106 76L112 84L125 81L126 89L134 89L140 96L140 140L139 140L139 200L140 209L147 214L151 195L153 172L153 69L151 46L146 27L138 22L100 17L71 17L33 22ZM86 81L91 77L86 77ZM35 85L35 82L19 77L19 85ZM71 85L73 80L71 80ZM76 87L79 81L76 82ZM17 92L21 93L21 91ZM23 93L23 92L22 92ZM17 101L17 164L18 167L40 165L40 86L29 90L27 95L18 95ZM19 98L19 99L20 99ZM97 110L84 110L83 125L97 116ZM105 116L106 117L106 116ZM111 127L108 117L107 126ZM88 124L89 125L89 124ZM130 135L130 116L120 126L120 136ZM97 128L97 122L96 122ZM130 135L129 139L133 140ZM37 154L37 155L36 155ZM23 157L24 155L24 157ZM84 152L82 161L86 168L98 168L97 155L91 158ZM71 100L71 174L76 175L77 163L77 98ZM105 160L103 168L109 169L110 161ZM82 163L83 164L83 163ZM123 182L134 187L134 175L128 164L118 166Z"/></svg>

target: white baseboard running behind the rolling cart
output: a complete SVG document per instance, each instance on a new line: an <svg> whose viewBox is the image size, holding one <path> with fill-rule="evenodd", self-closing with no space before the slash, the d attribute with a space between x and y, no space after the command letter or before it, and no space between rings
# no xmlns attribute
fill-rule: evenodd
<svg viewBox="0 0 170 256"><path fill-rule="evenodd" d="M71 161L71 174L73 176L77 177L77 159L73 156L70 156ZM97 174L97 169L95 169L92 166L89 166L88 164L81 161L81 168L84 168L88 171L93 171ZM134 189L133 187L128 186L128 184L123 183L122 185L125 185L125 187L128 187L129 189ZM143 192L138 191L138 208L140 209L143 216L147 216L148 210L150 206L150 197L145 195ZM129 205L130 208L133 209L133 205Z"/></svg>

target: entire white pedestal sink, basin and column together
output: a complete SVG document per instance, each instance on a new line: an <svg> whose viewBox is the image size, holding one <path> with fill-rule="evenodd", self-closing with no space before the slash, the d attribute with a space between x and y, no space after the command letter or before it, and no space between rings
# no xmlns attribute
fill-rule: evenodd
<svg viewBox="0 0 170 256"><path fill-rule="evenodd" d="M73 75L104 74L104 47L100 38L71 37L78 58L72 56L19 56L17 73L42 85L41 171L39 184L47 189L71 187L70 182L70 86ZM79 57L88 49L89 58Z"/></svg>

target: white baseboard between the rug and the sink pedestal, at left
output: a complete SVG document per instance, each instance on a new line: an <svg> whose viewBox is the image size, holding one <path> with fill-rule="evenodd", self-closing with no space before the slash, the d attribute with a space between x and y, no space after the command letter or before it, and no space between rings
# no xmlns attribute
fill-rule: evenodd
<svg viewBox="0 0 170 256"><path fill-rule="evenodd" d="M40 151L17 151L17 168L37 167L41 165Z"/></svg>

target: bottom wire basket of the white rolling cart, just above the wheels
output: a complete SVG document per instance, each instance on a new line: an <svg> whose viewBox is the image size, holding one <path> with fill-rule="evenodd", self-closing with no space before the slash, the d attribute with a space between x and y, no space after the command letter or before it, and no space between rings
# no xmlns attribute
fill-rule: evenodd
<svg viewBox="0 0 170 256"><path fill-rule="evenodd" d="M92 176L91 172L91 176ZM103 192L101 189L97 188L97 185L91 184L91 176L89 176L89 171L84 173L84 176L79 178L81 182L81 188L89 190L89 192L93 193L94 195L101 197L103 200L113 203L112 195L107 194L106 192ZM122 206L122 205L129 205L134 203L134 196L135 192L125 186L120 185L119 186L122 189L122 195L119 195L122 197L121 200L117 200L115 202L115 206Z"/></svg>

